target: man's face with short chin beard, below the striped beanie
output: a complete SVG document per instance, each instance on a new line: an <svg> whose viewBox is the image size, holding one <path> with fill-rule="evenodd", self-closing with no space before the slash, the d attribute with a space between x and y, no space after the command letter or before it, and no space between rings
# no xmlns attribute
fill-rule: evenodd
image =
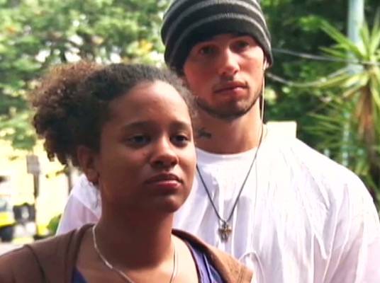
<svg viewBox="0 0 380 283"><path fill-rule="evenodd" d="M264 52L251 36L223 34L194 45L184 76L202 110L233 120L259 98L263 64Z"/></svg>

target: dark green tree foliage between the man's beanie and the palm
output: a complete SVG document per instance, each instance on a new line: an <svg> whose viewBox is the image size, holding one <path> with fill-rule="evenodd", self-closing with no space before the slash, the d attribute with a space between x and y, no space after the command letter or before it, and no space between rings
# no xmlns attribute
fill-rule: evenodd
<svg viewBox="0 0 380 283"><path fill-rule="evenodd" d="M321 139L315 139L308 130L315 122L309 114L327 115L323 101L334 96L335 92L294 82L315 81L339 68L334 62L311 59L302 53L323 55L320 47L334 44L333 38L320 28L324 22L346 33L348 0L262 0L261 4L274 47L274 66L269 69L267 77L267 120L296 120L298 137L318 147ZM369 22L373 21L376 6L379 6L379 0L365 1ZM274 79L271 74L281 79Z"/></svg>

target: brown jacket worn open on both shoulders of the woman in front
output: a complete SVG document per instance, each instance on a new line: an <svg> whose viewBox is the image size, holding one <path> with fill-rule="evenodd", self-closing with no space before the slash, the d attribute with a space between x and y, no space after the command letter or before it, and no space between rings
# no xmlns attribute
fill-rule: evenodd
<svg viewBox="0 0 380 283"><path fill-rule="evenodd" d="M91 224L61 236L38 241L0 256L1 283L71 283L79 246ZM252 272L222 251L184 231L179 238L196 243L226 283L249 283Z"/></svg>

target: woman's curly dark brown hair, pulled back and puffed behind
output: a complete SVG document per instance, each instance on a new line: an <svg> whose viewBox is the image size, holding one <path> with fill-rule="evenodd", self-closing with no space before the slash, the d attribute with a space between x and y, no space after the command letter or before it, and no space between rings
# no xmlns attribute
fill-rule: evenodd
<svg viewBox="0 0 380 283"><path fill-rule="evenodd" d="M79 167L78 146L99 151L101 128L109 118L108 104L143 82L164 81L174 86L194 116L192 96L172 71L143 64L92 62L52 69L31 93L33 126L45 139L47 157Z"/></svg>

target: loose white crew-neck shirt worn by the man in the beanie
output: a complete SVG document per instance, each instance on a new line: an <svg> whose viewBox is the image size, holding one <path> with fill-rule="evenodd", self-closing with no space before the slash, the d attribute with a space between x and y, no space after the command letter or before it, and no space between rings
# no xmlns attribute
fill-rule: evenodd
<svg viewBox="0 0 380 283"><path fill-rule="evenodd" d="M201 175L224 219L255 151L220 155L197 149ZM100 215L99 194L83 176L58 233ZM367 189L352 172L298 139L267 134L230 219L227 242L220 241L219 224L196 175L174 227L238 258L254 270L257 283L380 282L379 216Z"/></svg>

